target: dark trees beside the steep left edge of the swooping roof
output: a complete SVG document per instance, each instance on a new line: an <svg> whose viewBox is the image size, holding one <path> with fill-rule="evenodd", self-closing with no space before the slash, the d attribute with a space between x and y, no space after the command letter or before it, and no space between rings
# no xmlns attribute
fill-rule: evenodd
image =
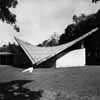
<svg viewBox="0 0 100 100"><path fill-rule="evenodd" d="M32 66L31 61L27 57L27 55L24 53L22 48L19 45L16 45L15 43L10 43L8 45L3 45L0 48L0 52L10 52L13 55L13 59L11 58L11 64L16 67L20 68L28 68L29 66Z"/></svg>

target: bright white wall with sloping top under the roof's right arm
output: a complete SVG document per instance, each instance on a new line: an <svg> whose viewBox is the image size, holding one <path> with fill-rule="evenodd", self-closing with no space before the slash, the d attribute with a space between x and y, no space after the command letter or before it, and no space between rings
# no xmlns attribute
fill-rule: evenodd
<svg viewBox="0 0 100 100"><path fill-rule="evenodd" d="M84 66L86 64L85 49L73 50L56 61L56 67Z"/></svg>

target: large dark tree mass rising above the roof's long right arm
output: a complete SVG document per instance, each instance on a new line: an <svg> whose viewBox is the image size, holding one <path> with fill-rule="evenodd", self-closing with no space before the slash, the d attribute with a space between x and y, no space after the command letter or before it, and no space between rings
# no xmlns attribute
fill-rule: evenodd
<svg viewBox="0 0 100 100"><path fill-rule="evenodd" d="M60 36L59 43L67 43L77 37L91 31L93 28L100 28L100 10L95 14L73 16L74 23L67 26L65 32Z"/></svg>

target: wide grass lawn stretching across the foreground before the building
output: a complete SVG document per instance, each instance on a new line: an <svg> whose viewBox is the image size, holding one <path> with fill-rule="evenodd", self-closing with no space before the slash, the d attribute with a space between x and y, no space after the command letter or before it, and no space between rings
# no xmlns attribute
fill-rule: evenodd
<svg viewBox="0 0 100 100"><path fill-rule="evenodd" d="M33 98L27 100L36 100L32 97L34 93L41 100L99 100L100 66L36 69L33 73L22 73L22 69L1 65L1 90L5 87L5 91L10 91L7 86L13 93L20 92Z"/></svg>

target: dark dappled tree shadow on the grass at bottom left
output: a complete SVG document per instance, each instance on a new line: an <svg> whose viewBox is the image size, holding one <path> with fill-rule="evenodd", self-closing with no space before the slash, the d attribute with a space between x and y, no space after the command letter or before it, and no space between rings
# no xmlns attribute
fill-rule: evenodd
<svg viewBox="0 0 100 100"><path fill-rule="evenodd" d="M0 100L39 100L42 91L30 91L23 87L29 80L0 83Z"/></svg>

